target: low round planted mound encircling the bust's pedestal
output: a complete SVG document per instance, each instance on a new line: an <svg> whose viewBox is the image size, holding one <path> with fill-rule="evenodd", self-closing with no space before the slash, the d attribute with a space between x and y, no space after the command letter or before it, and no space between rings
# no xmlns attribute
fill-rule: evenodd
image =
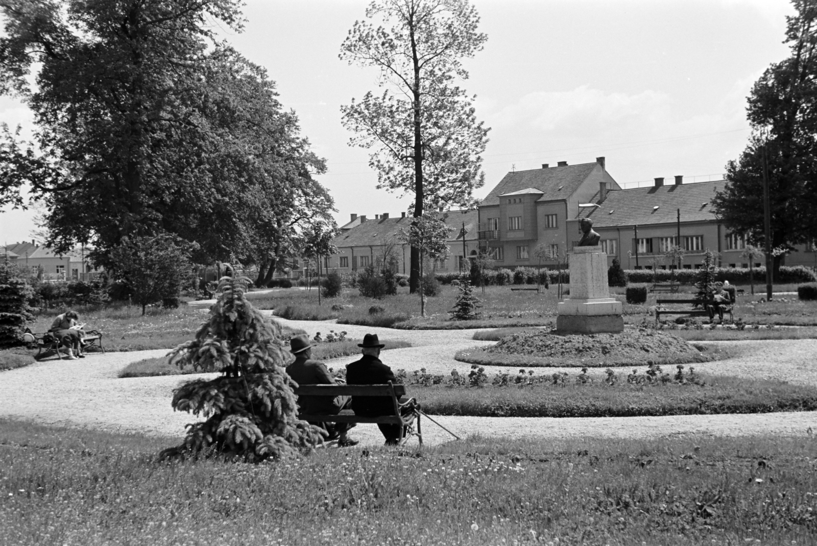
<svg viewBox="0 0 817 546"><path fill-rule="evenodd" d="M646 328L620 334L558 335L524 331L491 347L457 353L457 360L485 366L644 366L719 360L718 348L693 345L675 335Z"/></svg>

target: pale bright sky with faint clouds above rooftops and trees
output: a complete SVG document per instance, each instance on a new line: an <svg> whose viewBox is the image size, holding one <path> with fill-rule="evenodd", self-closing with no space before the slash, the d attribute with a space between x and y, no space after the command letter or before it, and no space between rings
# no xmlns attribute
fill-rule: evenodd
<svg viewBox="0 0 817 546"><path fill-rule="evenodd" d="M406 211L411 196L377 189L367 151L350 147L340 108L377 89L374 69L338 59L368 2L245 0L243 33L223 38L277 82L312 149L317 178L350 214ZM484 50L460 85L491 127L483 198L508 171L605 156L625 187L663 176L719 180L750 135L746 97L788 55L788 0L472 0ZM217 22L214 22L217 24ZM25 104L0 97L0 122L31 131ZM36 211L0 212L0 243L32 238Z"/></svg>

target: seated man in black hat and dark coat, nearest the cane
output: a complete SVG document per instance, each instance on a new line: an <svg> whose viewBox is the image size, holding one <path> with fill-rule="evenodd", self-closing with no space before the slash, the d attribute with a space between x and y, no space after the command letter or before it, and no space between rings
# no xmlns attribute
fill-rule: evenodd
<svg viewBox="0 0 817 546"><path fill-rule="evenodd" d="M380 349L384 344L377 340L377 334L366 334L363 343L359 343L363 357L346 365L346 383L350 385L382 385L389 381L395 383L391 368L380 362ZM352 397L352 409L355 415L378 417L393 415L395 408L390 397ZM377 424L380 432L386 437L386 446L397 446L403 436L400 424Z"/></svg>

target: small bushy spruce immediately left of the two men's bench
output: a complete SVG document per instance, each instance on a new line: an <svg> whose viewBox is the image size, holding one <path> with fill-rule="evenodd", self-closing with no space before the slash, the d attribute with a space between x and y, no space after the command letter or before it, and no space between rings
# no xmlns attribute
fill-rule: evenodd
<svg viewBox="0 0 817 546"><path fill-rule="evenodd" d="M321 442L319 428L297 419L296 384L284 370L281 328L244 297L249 279L222 277L210 317L195 339L176 347L171 362L196 371L220 371L173 392L174 410L206 419L187 425L185 442L162 458L232 455L250 461L297 455Z"/></svg>

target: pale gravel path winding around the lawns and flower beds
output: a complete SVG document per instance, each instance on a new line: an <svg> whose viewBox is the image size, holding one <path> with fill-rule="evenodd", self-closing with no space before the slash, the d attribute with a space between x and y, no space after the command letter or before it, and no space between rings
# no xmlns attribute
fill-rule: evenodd
<svg viewBox="0 0 817 546"><path fill-rule="evenodd" d="M306 330L311 336L320 331L346 331L360 339L377 333L381 340L406 340L410 348L386 351L382 359L392 369L409 373L425 367L431 373L449 374L453 368L467 372L470 365L453 360L458 350L491 342L471 340L474 331L403 331L368 326L337 325L332 322L281 321ZM699 371L752 378L772 378L817 385L817 340L729 341L734 354L721 362L698 364ZM90 354L83 360L38 362L0 373L0 416L30 420L39 424L138 431L181 437L184 426L194 420L186 413L172 411L172 389L190 376L118 379L118 371L131 362L159 357L166 350L132 353ZM332 367L357 357L336 358ZM506 370L498 367L494 371ZM569 371L575 368L540 368L538 372ZM622 369L625 371L628 369ZM603 374L592 369L593 374ZM207 376L207 375L205 375ZM646 439L677 434L712 436L752 436L755 434L804 434L817 429L817 412L758 415L682 415L629 418L516 418L516 417L435 417L459 436L470 434L498 437L618 437ZM451 439L427 419L422 421L426 444ZM362 444L377 445L382 436L374 425L358 425L353 436Z"/></svg>

